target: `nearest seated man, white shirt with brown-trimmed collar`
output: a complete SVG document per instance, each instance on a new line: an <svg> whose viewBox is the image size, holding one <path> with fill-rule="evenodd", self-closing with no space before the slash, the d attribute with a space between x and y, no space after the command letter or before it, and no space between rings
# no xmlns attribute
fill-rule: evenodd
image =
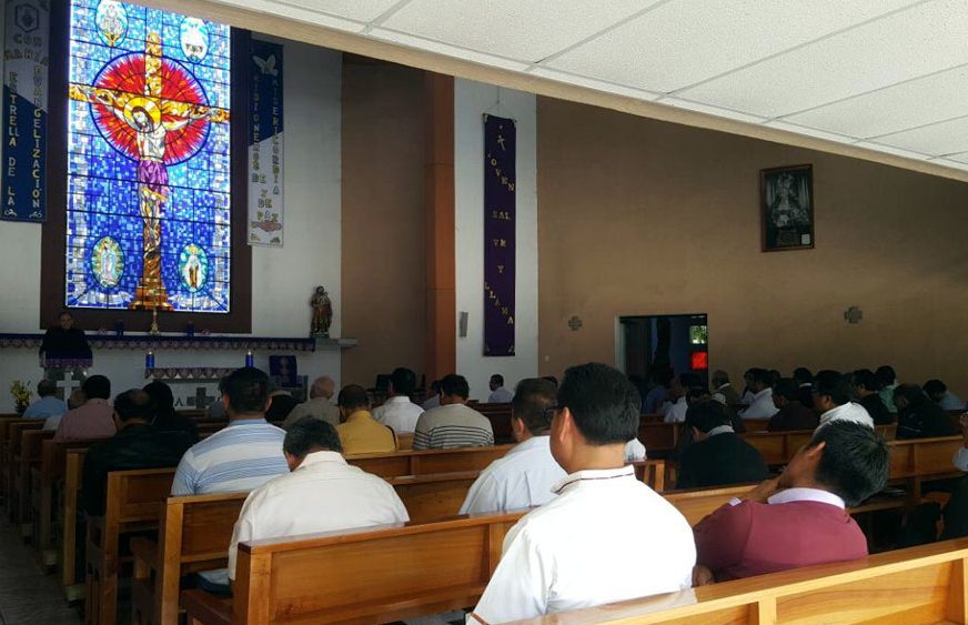
<svg viewBox="0 0 968 625"><path fill-rule="evenodd" d="M638 391L609 366L591 363L565 372L551 451L568 476L555 498L508 532L468 624L689 587L695 544L688 523L625 465L639 407Z"/></svg>

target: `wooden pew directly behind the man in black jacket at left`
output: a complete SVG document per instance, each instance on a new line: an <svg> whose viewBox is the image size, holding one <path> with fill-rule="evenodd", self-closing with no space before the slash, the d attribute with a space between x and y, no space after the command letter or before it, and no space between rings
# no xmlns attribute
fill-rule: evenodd
<svg viewBox="0 0 968 625"><path fill-rule="evenodd" d="M84 622L113 625L118 612L121 535L158 527L160 504L171 493L174 468L112 471L104 516L88 516Z"/></svg>

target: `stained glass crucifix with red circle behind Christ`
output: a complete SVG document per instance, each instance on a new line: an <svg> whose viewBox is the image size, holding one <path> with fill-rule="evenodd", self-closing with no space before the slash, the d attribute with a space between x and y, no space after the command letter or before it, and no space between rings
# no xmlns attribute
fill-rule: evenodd
<svg viewBox="0 0 968 625"><path fill-rule="evenodd" d="M205 141L208 123L229 123L226 109L210 107L182 64L162 57L157 32L143 54L113 59L98 83L70 84L70 98L91 104L104 138L138 163L138 205L143 220L141 280L133 310L171 310L161 278L161 219L169 201L168 167L184 161Z"/></svg>

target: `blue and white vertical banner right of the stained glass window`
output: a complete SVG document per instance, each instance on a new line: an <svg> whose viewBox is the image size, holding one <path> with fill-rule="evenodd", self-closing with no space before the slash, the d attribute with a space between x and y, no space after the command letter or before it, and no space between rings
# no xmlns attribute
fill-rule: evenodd
<svg viewBox="0 0 968 625"><path fill-rule="evenodd" d="M249 102L249 244L282 248L282 46L252 40Z"/></svg>

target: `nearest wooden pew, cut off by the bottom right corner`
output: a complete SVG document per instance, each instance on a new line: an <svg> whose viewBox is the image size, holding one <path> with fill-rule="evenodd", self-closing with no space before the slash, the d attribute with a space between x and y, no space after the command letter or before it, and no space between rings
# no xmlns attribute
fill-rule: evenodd
<svg viewBox="0 0 968 625"><path fill-rule="evenodd" d="M966 623L966 578L968 540L959 538L520 623Z"/></svg>

